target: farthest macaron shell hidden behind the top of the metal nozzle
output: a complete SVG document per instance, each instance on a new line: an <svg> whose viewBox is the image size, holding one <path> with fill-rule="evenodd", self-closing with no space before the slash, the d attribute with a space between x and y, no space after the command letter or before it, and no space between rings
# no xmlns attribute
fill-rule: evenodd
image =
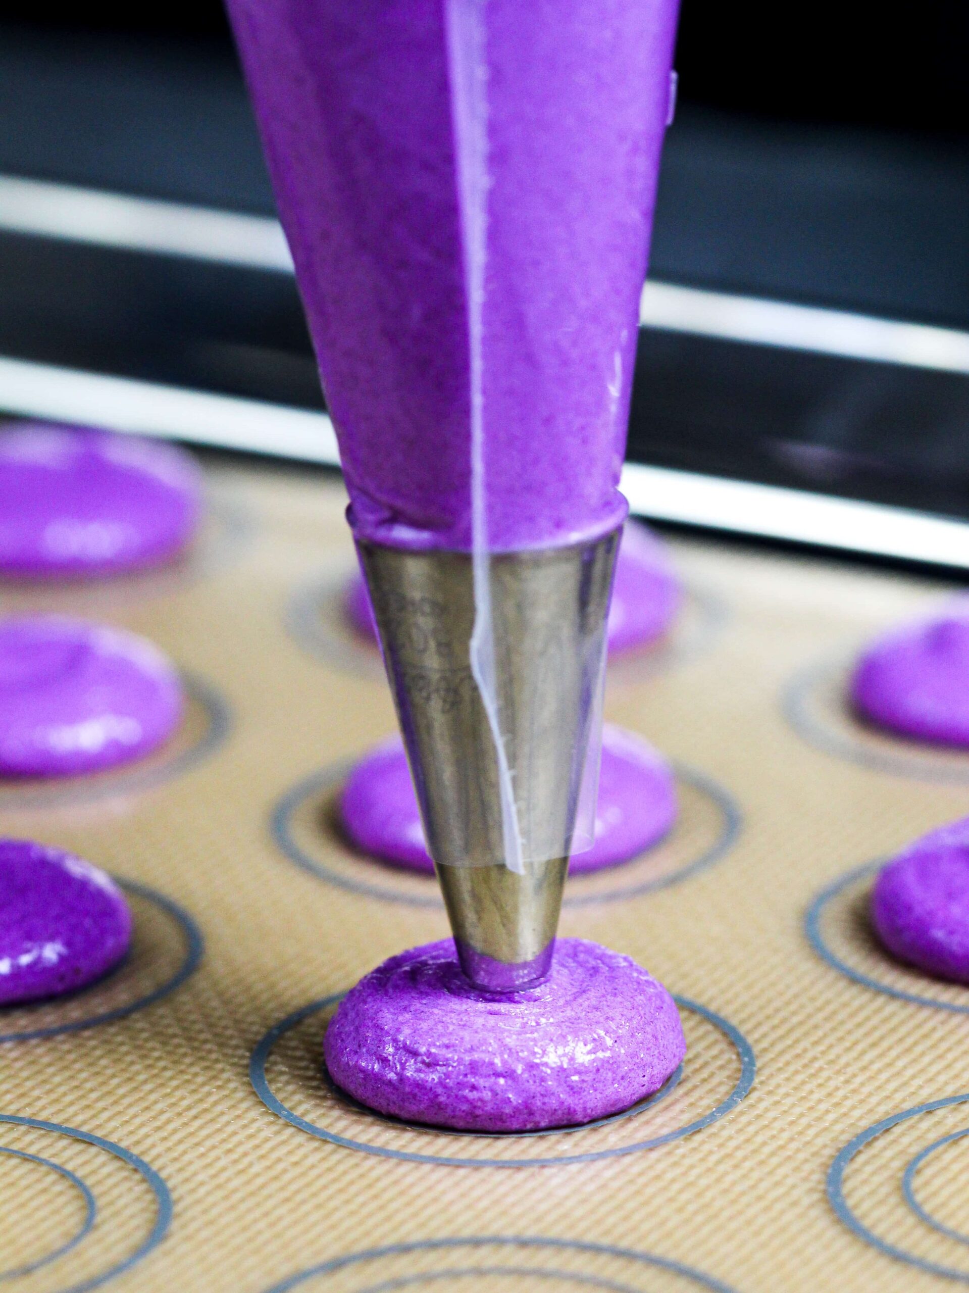
<svg viewBox="0 0 969 1293"><path fill-rule="evenodd" d="M665 544L645 525L627 521L609 608L610 654L637 650L662 637L681 600L682 586ZM344 609L360 636L376 639L373 609L359 572L346 586Z"/></svg>

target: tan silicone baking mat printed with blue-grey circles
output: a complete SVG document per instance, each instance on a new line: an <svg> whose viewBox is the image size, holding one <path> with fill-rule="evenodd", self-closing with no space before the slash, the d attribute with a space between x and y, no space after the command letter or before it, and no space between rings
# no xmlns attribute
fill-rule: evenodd
<svg viewBox="0 0 969 1293"><path fill-rule="evenodd" d="M683 615L611 667L609 718L676 763L651 853L570 882L562 930L677 994L660 1096L592 1127L453 1135L326 1085L333 1003L446 934L433 881L349 852L348 762L393 729L346 628L341 487L209 464L180 568L0 590L143 632L185 672L169 750L0 786L0 829L129 886L114 976L0 1016L0 1276L10 1293L408 1289L817 1293L969 1280L969 989L893 966L871 864L969 811L969 754L863 731L858 644L944 586L674 540ZM756 1074L755 1074L756 1068Z"/></svg>

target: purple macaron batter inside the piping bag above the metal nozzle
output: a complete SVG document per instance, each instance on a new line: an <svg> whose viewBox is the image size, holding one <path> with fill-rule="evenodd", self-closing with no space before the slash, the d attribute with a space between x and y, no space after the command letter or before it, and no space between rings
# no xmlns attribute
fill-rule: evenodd
<svg viewBox="0 0 969 1293"><path fill-rule="evenodd" d="M491 548L615 529L677 0L229 16L355 535L470 548L478 299Z"/></svg>

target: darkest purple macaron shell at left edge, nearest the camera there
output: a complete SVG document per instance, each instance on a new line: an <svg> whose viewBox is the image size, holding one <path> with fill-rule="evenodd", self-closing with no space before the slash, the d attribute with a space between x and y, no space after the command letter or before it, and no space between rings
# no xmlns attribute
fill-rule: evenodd
<svg viewBox="0 0 969 1293"><path fill-rule="evenodd" d="M132 914L90 862L26 839L0 839L0 1005L74 992L128 952Z"/></svg>

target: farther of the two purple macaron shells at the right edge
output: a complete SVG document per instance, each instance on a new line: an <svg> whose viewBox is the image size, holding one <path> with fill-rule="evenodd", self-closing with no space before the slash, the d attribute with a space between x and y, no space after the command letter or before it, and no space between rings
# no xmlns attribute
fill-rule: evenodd
<svg viewBox="0 0 969 1293"><path fill-rule="evenodd" d="M879 727L969 746L969 597L885 634L859 658L851 700Z"/></svg>

